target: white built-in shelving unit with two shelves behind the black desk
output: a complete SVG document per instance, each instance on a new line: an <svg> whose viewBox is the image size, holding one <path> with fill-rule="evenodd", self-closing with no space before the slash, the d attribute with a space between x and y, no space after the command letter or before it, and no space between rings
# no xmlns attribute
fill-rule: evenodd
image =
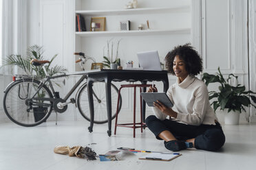
<svg viewBox="0 0 256 170"><path fill-rule="evenodd" d="M92 17L106 17L106 30L74 32L75 50L94 57L96 62L102 62L107 40L122 39L121 65L124 65L127 60L133 60L138 64L136 52L153 49L159 50L160 59L163 60L163 56L173 47L173 44L190 42L191 2L189 0L184 2L163 0L159 3L155 0L147 0L140 3L140 8L123 9L125 1L120 0L111 2L76 0L74 12L85 18L86 29L89 30ZM131 21L131 30L120 31L120 21L128 20ZM149 29L147 29L147 20L149 20ZM144 25L143 30L138 30L140 24ZM78 65L76 65L76 71L80 71Z"/></svg>

